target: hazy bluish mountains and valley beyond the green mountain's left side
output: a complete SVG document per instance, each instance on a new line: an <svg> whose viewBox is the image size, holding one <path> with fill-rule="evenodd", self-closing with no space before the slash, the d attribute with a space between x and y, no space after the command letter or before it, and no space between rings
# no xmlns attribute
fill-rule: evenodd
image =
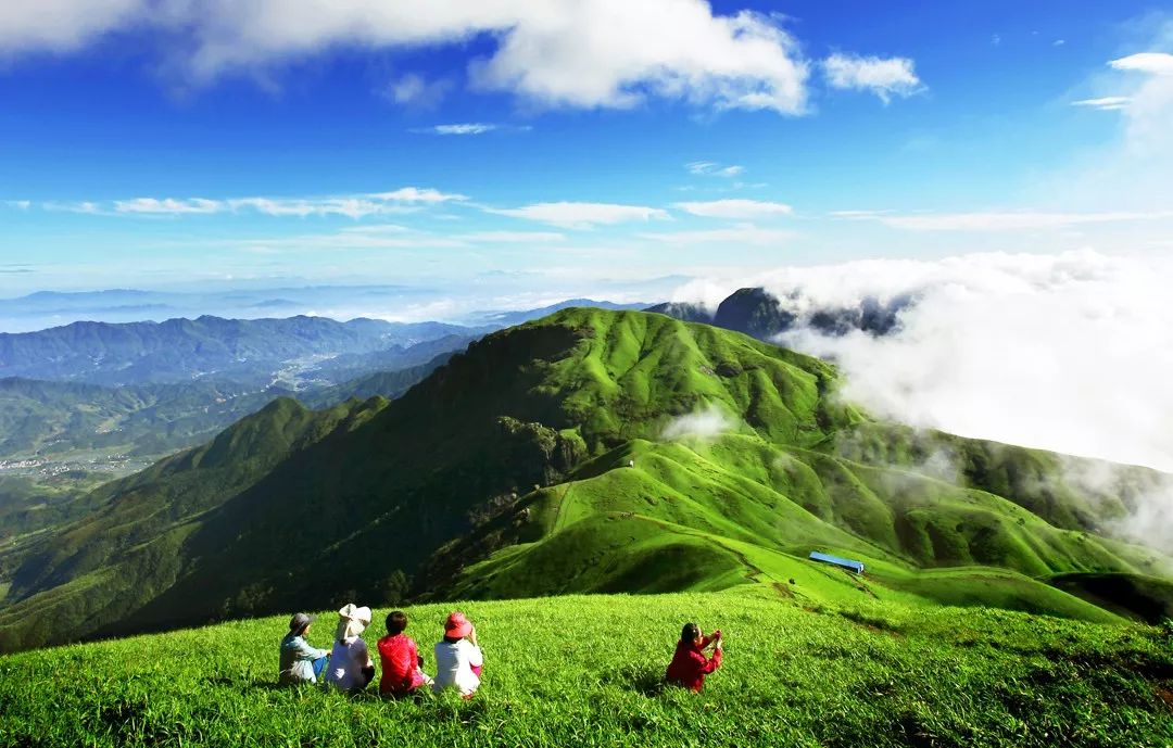
<svg viewBox="0 0 1173 748"><path fill-rule="evenodd" d="M141 295L83 295L128 294ZM96 483L199 444L274 397L313 408L396 397L502 324L205 315L0 335L0 545L74 518L73 499Z"/></svg>

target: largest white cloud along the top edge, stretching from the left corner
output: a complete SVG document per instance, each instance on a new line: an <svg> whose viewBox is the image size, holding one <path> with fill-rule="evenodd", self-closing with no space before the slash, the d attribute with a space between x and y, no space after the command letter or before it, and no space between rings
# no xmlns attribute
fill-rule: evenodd
<svg viewBox="0 0 1173 748"><path fill-rule="evenodd" d="M48 7L46 7L46 2ZM807 64L781 16L713 13L705 0L46 0L2 4L0 53L68 49L155 26L172 68L206 82L331 49L495 42L469 77L538 106L626 108L647 97L713 109L802 114ZM388 97L435 93L418 74ZM442 95L442 91L440 91Z"/></svg>

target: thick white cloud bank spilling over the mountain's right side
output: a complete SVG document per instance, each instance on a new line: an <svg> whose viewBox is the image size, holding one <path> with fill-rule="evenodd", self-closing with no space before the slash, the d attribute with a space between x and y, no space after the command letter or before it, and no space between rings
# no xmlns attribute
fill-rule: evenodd
<svg viewBox="0 0 1173 748"><path fill-rule="evenodd" d="M673 298L712 304L757 285L800 317L915 299L889 336L802 327L782 341L834 358L846 395L879 415L1173 471L1173 258L861 260L710 279Z"/></svg>

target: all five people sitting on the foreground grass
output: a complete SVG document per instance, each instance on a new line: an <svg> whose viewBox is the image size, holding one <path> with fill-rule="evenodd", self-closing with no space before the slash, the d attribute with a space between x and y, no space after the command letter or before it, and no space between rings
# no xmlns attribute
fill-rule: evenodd
<svg viewBox="0 0 1173 748"><path fill-rule="evenodd" d="M371 625L371 608L348 603L338 611L334 646L331 651L310 646L306 634L314 617L297 613L290 620L290 632L282 639L282 684L316 684L345 693L359 693L374 680L374 659L362 640L362 632ZM421 693L428 686L433 692L454 689L472 699L481 686L484 655L476 641L476 627L461 613L453 611L443 624L443 638L434 647L435 678L423 672L423 658L415 641L404 633L407 616L402 611L387 614L387 635L379 639L379 662L382 675L379 693L398 698ZM712 657L705 650L713 647ZM705 675L721 664L721 632L706 637L697 624L685 624L680 641L667 667L667 682L700 693Z"/></svg>

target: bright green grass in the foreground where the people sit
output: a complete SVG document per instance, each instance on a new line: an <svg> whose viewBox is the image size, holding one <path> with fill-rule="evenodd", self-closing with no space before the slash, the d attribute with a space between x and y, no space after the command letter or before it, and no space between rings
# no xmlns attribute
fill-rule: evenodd
<svg viewBox="0 0 1173 748"><path fill-rule="evenodd" d="M361 601L361 600L360 600ZM449 604L407 608L427 665ZM287 616L0 658L5 746L1150 746L1173 743L1173 631L986 608L795 605L762 586L459 605L470 702L277 688ZM375 611L368 644L382 633ZM311 632L326 642L331 618ZM680 624L726 635L692 695ZM1164 691L1161 691L1164 689Z"/></svg>

